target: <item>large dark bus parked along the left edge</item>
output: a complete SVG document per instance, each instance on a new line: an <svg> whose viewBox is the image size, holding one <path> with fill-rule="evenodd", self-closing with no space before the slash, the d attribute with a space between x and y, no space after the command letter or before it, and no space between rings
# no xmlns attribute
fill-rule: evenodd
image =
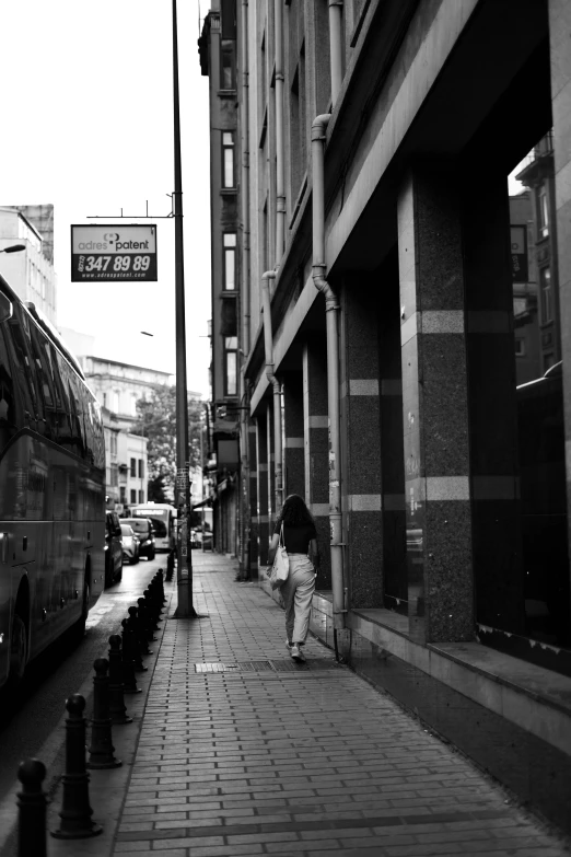
<svg viewBox="0 0 571 857"><path fill-rule="evenodd" d="M104 588L100 405L58 334L0 276L0 686Z"/></svg>

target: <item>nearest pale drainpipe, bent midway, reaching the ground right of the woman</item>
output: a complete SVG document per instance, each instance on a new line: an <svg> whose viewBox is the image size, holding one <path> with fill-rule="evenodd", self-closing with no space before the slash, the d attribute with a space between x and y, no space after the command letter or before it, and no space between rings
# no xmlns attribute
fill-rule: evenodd
<svg viewBox="0 0 571 857"><path fill-rule="evenodd" d="M341 461L339 435L339 301L325 279L324 143L330 114L312 125L313 281L325 297L327 328L327 405L329 412L329 526L334 629L345 627L343 556L341 533Z"/></svg>

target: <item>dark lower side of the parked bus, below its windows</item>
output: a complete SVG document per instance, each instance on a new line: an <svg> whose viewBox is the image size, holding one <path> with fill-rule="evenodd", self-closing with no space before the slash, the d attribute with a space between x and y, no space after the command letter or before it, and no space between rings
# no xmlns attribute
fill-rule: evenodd
<svg viewBox="0 0 571 857"><path fill-rule="evenodd" d="M90 606L104 588L103 472L22 432L0 460L0 685L8 676L10 636L19 594L28 612L30 658L81 615L90 564ZM81 485L81 488L80 488ZM89 536L89 537L88 537Z"/></svg>

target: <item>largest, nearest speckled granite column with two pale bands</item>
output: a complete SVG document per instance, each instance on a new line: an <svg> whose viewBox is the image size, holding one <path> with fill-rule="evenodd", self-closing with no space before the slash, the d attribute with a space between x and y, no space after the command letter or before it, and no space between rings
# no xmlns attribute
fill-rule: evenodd
<svg viewBox="0 0 571 857"><path fill-rule="evenodd" d="M475 635L458 179L417 164L397 201L409 634Z"/></svg>

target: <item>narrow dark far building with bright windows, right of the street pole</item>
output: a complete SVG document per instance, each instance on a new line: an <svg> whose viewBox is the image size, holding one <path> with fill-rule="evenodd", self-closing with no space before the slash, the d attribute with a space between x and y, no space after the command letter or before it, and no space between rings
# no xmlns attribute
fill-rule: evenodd
<svg viewBox="0 0 571 857"><path fill-rule="evenodd" d="M217 549L236 555L240 471L240 140L235 0L212 3L199 39L200 70L210 93L210 224L212 258L211 443L212 511Z"/></svg>

